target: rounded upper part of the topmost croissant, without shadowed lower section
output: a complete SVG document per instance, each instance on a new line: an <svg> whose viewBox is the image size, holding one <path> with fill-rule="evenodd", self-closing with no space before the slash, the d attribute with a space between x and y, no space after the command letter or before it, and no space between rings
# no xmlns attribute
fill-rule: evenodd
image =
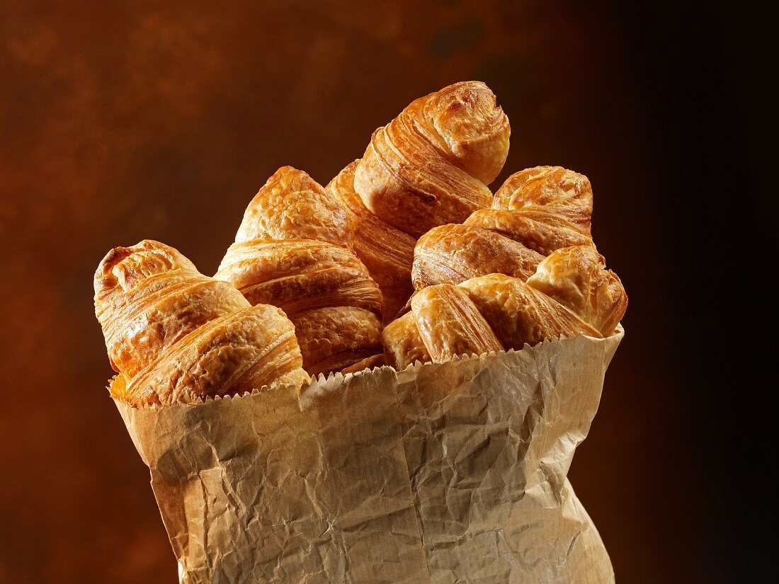
<svg viewBox="0 0 779 584"><path fill-rule="evenodd" d="M373 132L354 173L365 206L419 237L489 206L509 149L509 119L484 83L455 83L414 100Z"/></svg>

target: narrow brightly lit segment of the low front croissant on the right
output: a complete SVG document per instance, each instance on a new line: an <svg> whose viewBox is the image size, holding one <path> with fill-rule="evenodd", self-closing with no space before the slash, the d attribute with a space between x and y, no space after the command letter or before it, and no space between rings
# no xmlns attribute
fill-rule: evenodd
<svg viewBox="0 0 779 584"><path fill-rule="evenodd" d="M449 361L456 355L481 355L503 349L468 295L451 284L431 286L414 294L411 314L435 363Z"/></svg>

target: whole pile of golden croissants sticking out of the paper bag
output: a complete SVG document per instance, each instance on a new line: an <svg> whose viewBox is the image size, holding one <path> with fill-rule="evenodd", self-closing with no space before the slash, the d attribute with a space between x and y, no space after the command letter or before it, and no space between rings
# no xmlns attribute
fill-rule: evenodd
<svg viewBox="0 0 779 584"><path fill-rule="evenodd" d="M534 167L493 195L509 134L488 86L455 83L326 187L280 168L213 277L157 241L112 249L94 276L111 394L192 403L611 335L627 297L590 236L590 181Z"/></svg>

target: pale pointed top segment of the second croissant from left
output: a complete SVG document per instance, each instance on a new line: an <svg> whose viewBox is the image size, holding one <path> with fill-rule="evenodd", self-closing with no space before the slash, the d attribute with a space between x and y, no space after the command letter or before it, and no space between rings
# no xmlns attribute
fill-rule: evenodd
<svg viewBox="0 0 779 584"><path fill-rule="evenodd" d="M336 199L303 171L281 167L246 208L235 241L315 239L350 245L354 224Z"/></svg>

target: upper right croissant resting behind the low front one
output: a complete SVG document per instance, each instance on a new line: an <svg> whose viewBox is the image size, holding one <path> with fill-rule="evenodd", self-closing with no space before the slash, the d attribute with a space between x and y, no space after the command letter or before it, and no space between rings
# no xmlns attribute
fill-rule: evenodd
<svg viewBox="0 0 779 584"><path fill-rule="evenodd" d="M555 249L594 247L590 236L592 188L583 174L535 167L510 176L490 209L478 209L462 225L443 225L414 249L414 288L460 283L488 273L527 280ZM472 243L474 237L489 242Z"/></svg>

